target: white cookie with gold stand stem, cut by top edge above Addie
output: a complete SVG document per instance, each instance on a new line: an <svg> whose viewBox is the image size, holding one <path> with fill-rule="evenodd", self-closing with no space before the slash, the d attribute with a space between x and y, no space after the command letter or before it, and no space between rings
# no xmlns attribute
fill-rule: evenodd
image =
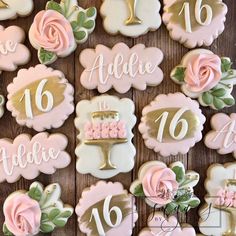
<svg viewBox="0 0 236 236"><path fill-rule="evenodd" d="M103 0L100 13L109 34L138 37L161 25L159 0Z"/></svg>

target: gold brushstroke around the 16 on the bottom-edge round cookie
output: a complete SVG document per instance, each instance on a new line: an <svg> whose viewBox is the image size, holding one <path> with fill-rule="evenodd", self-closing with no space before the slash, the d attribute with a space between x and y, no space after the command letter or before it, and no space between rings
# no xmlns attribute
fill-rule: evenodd
<svg viewBox="0 0 236 236"><path fill-rule="evenodd" d="M103 217L104 201L105 201L105 199L100 201L100 202L97 202L96 204L89 207L81 217L80 223L81 224L86 224L86 227L91 230L90 236L98 236L99 235L97 227L96 227L95 220L93 219L90 222L91 213L92 213L92 210L94 208L98 209L99 216L100 216L104 231L107 232L111 229L106 224L105 219ZM120 194L120 195L112 196L112 199L111 199L111 202L110 202L110 209L113 206L119 207L121 209L122 215L123 215L122 220L124 220L124 218L126 216L128 216L129 214L132 213L132 209L129 207L129 204L130 204L130 199L129 199L127 194ZM114 223L115 221L116 221L116 214L114 212L112 212L111 213L111 222Z"/></svg>

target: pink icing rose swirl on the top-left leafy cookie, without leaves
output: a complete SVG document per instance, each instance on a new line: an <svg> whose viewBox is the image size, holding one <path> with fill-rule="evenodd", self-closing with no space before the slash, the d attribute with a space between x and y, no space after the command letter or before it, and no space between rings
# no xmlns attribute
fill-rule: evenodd
<svg viewBox="0 0 236 236"><path fill-rule="evenodd" d="M30 32L38 47L58 55L66 53L75 44L70 22L57 11L40 11L34 18Z"/></svg>

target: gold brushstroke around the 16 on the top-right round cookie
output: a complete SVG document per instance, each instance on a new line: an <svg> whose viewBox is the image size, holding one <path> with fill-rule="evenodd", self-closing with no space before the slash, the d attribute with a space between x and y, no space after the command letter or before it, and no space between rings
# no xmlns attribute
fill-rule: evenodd
<svg viewBox="0 0 236 236"><path fill-rule="evenodd" d="M184 30L186 29L185 25L185 19L184 19L184 14L179 15L179 12L181 12L181 9L183 7L184 3L189 3L190 5L190 21L191 21L191 26L192 30L197 30L201 25L197 22L196 17L195 17L195 4L196 0L177 0L173 5L171 5L168 9L168 13L172 13L170 21L174 24L178 24L183 28ZM212 2L214 2L212 4ZM224 5L222 2L218 0L202 0L202 5L208 4L212 8L213 12L213 19L222 11L222 8ZM206 19L206 11L203 10L201 14L201 19L204 21Z"/></svg>

